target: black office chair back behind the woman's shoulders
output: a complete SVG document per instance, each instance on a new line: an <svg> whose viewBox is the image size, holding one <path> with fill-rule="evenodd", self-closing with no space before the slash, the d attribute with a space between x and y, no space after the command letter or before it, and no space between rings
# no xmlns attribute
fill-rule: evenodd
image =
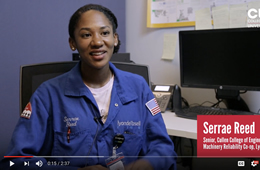
<svg viewBox="0 0 260 170"><path fill-rule="evenodd" d="M40 63L20 68L20 112L29 102L31 95L44 81L68 72L78 61ZM149 68L146 65L112 62L117 68L144 77L150 86Z"/></svg>

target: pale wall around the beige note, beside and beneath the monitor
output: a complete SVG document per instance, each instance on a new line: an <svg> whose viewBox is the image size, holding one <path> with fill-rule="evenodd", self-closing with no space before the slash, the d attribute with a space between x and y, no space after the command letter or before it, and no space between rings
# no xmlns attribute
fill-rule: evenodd
<svg viewBox="0 0 260 170"><path fill-rule="evenodd" d="M194 27L147 28L146 13L147 0L126 0L126 52L130 52L134 62L149 66L150 78L153 83L180 85L179 46L176 47L173 61L161 60L163 36L165 33L178 35L180 30L194 30ZM212 89L182 88L182 96L190 104L217 101ZM251 111L258 111L260 92L247 92L241 96Z"/></svg>

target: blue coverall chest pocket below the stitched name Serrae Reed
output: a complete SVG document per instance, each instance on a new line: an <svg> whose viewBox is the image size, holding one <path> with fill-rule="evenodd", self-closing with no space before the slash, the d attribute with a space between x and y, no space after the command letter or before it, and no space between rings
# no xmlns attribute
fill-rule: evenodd
<svg viewBox="0 0 260 170"><path fill-rule="evenodd" d="M83 156L91 147L90 130L68 133L55 132L53 155L55 156Z"/></svg>

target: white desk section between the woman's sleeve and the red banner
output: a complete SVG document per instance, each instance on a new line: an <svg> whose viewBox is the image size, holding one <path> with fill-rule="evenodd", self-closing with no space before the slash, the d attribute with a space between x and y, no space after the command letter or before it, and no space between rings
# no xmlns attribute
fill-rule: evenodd
<svg viewBox="0 0 260 170"><path fill-rule="evenodd" d="M170 136L197 139L197 120L178 117L171 111L165 111L162 117Z"/></svg>

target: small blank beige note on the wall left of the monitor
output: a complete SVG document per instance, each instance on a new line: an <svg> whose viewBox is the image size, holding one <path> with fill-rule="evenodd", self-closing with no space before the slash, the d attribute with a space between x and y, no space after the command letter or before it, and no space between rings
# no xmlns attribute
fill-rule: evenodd
<svg viewBox="0 0 260 170"><path fill-rule="evenodd" d="M162 59L173 60L177 44L176 34L164 34Z"/></svg>

